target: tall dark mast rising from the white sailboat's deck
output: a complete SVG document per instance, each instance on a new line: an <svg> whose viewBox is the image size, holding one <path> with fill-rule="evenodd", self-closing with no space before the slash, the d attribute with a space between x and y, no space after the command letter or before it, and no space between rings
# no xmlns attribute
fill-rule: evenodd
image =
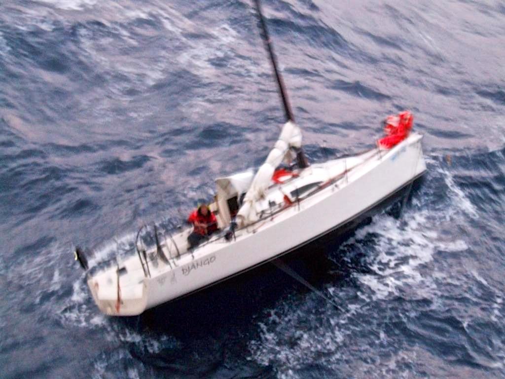
<svg viewBox="0 0 505 379"><path fill-rule="evenodd" d="M267 23L265 22L265 18L263 17L263 12L261 10L260 0L253 0L254 5L256 7L256 12L258 13L258 18L260 20L260 27L262 30L262 38L265 44L265 48L268 52L270 63L272 64L272 68L274 70L275 79L277 81L277 85L279 86L279 94L281 96L282 105L284 107L284 114L286 116L286 121L294 121L293 111L291 109L291 104L289 103L289 99L287 97L286 86L284 85L284 80L278 69L277 57L274 53L274 48L272 45L272 40L270 39L270 35L268 33ZM307 168L309 167L309 161L304 153L304 150L300 148L295 148L296 153L296 161L298 163L298 167Z"/></svg>

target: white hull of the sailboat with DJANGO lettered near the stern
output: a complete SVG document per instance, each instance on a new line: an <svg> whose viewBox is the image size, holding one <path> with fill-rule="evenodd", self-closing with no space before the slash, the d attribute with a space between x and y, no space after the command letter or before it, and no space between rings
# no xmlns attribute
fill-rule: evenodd
<svg viewBox="0 0 505 379"><path fill-rule="evenodd" d="M413 133L391 150L376 149L357 157L314 164L300 174L299 180L307 182L311 175L335 177L346 169L348 172L299 204L276 213L273 219L268 217L237 230L230 242L221 238L196 248L192 254L171 258L168 264L158 261L158 267L149 267L150 277L144 275L137 256L122 263L123 274L118 274L117 267L100 271L88 278L93 298L106 314L137 315L313 241L420 176L426 170L421 139L420 134ZM278 196L275 191L279 190L272 188L272 197ZM185 241L188 232L174 236L174 240ZM167 256L174 256L172 245L163 245Z"/></svg>

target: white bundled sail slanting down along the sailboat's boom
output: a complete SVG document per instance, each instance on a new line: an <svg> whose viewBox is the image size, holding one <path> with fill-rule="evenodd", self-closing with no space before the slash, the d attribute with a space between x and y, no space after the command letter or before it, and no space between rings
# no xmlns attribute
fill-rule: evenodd
<svg viewBox="0 0 505 379"><path fill-rule="evenodd" d="M289 156L290 148L301 147L301 130L292 121L288 121L282 127L279 139L270 151L265 163L256 173L252 183L245 194L242 206L237 213L237 223L245 226L258 220L256 202L265 196L265 190L270 185L275 168L279 166L286 156Z"/></svg>

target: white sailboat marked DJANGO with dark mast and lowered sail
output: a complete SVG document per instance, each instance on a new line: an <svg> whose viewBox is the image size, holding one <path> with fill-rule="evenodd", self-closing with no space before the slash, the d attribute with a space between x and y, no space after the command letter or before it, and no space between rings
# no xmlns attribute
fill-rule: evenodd
<svg viewBox="0 0 505 379"><path fill-rule="evenodd" d="M155 226L151 247L139 243L139 231L136 254L98 270L89 270L76 249L93 299L107 315L138 315L343 231L426 171L422 135L412 131L410 112L386 119L386 136L375 148L310 164L259 0L254 5L286 116L279 138L256 173L215 180L210 210L219 231L200 245L189 246L192 226L168 236Z"/></svg>

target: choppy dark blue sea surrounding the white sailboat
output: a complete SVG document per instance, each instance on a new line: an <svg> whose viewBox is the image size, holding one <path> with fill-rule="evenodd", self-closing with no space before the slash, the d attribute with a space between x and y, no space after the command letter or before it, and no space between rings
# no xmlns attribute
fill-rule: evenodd
<svg viewBox="0 0 505 379"><path fill-rule="evenodd" d="M0 377L505 377L505 4L263 8L310 160L373 147L410 109L424 181L399 215L313 247L317 272L291 267L319 294L273 267L106 317L74 247L107 260L142 224L176 225L277 138L255 12L2 0Z"/></svg>

